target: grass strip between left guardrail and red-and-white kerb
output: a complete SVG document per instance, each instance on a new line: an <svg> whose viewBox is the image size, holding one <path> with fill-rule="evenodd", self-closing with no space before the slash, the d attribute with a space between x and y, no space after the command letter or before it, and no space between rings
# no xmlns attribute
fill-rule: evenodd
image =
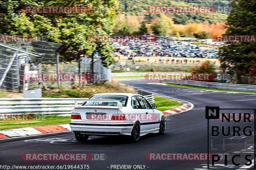
<svg viewBox="0 0 256 170"><path fill-rule="evenodd" d="M33 118L34 117L34 118ZM58 116L58 115L32 115L32 119L23 120L6 120L2 118L0 120L0 130L16 129L24 127L35 127L35 126L47 126L57 124L68 124L70 122L70 116Z"/></svg>

